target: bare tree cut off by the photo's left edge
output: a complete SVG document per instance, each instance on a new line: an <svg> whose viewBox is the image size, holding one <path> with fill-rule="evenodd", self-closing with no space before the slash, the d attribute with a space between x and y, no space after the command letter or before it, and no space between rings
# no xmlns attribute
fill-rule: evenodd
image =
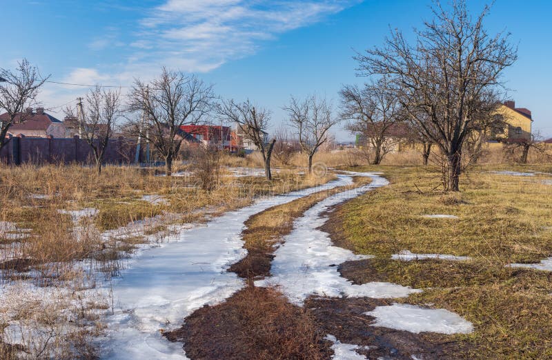
<svg viewBox="0 0 552 360"><path fill-rule="evenodd" d="M41 79L37 68L27 59L21 60L13 72L0 68L0 110L7 113L0 118L0 150L9 141L6 135L10 126L18 116L18 121L26 120L24 110L36 105L39 88L48 78Z"/></svg>

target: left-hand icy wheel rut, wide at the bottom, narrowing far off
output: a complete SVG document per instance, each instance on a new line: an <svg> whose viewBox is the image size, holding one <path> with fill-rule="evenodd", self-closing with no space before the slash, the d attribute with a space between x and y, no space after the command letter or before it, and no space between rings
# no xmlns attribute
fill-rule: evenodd
<svg viewBox="0 0 552 360"><path fill-rule="evenodd" d="M350 176L339 175L323 186L259 199L204 227L177 228L177 242L141 252L113 282L115 314L106 318L101 357L185 359L182 344L170 343L159 329L174 328L201 306L220 303L244 287L243 279L226 271L246 254L240 237L244 221L271 206L352 182Z"/></svg>

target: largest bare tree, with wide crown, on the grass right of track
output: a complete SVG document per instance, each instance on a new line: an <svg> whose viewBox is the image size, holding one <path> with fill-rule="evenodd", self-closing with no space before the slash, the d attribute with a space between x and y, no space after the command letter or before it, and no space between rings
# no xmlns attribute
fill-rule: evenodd
<svg viewBox="0 0 552 360"><path fill-rule="evenodd" d="M490 35L484 29L489 6L475 21L465 0L451 6L447 12L436 3L435 18L415 30L415 43L395 30L383 48L366 50L356 59L359 75L395 79L408 116L446 157L444 189L458 191L466 138L490 118L502 72L517 59L517 49L509 34Z"/></svg>

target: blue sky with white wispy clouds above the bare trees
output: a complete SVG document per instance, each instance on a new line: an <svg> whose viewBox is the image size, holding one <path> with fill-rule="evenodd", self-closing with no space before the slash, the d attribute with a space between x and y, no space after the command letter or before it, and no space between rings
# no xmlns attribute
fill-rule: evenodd
<svg viewBox="0 0 552 360"><path fill-rule="evenodd" d="M472 14L484 1L469 1ZM326 97L335 108L357 77L353 56L381 46L390 29L411 34L431 19L431 0L0 0L0 68L23 57L51 81L121 86L162 66L197 74L225 99L250 99L272 112L276 130L291 95ZM551 1L496 0L491 33L511 32L517 62L506 69L508 97L533 112L533 129L552 137ZM84 86L46 83L41 103L63 118ZM285 125L284 125L285 126ZM353 136L342 126L339 141Z"/></svg>

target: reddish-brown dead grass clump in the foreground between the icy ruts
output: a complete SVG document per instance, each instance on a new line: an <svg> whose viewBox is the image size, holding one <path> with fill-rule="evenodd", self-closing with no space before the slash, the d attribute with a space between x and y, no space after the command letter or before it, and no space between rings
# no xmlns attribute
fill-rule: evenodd
<svg viewBox="0 0 552 360"><path fill-rule="evenodd" d="M192 359L326 359L332 351L310 310L269 288L245 288L166 332Z"/></svg>

